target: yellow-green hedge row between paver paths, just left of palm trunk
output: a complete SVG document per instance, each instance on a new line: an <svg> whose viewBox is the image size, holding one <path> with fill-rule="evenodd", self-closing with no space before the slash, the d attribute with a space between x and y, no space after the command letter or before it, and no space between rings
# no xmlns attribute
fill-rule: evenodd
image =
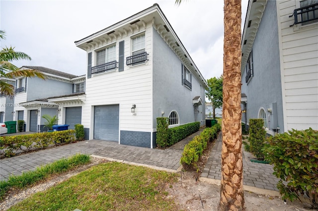
<svg viewBox="0 0 318 211"><path fill-rule="evenodd" d="M213 141L217 138L218 132L221 131L221 125L215 124L211 128L205 128L200 136L196 136L185 145L180 159L184 169L196 169L200 156L204 149L207 148L208 141Z"/></svg>

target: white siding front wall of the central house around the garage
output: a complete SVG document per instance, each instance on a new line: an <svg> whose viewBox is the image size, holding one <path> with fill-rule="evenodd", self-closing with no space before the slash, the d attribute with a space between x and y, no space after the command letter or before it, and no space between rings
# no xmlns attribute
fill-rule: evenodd
<svg viewBox="0 0 318 211"><path fill-rule="evenodd" d="M118 62L119 42L124 43L124 71L92 74L86 79L86 100L82 108L82 125L90 128L93 137L94 106L119 104L119 130L152 132L152 25L147 23L146 52L149 54L145 64L126 66L126 57L131 56L131 37L144 32L134 30L127 36L112 40L92 51L92 67L96 66L95 50L116 42L116 61ZM136 104L136 116L131 113L132 104Z"/></svg>

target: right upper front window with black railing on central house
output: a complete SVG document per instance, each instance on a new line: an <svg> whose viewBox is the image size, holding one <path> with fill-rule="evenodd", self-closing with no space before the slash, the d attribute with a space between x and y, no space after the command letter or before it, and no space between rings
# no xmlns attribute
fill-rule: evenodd
<svg viewBox="0 0 318 211"><path fill-rule="evenodd" d="M126 58L127 65L143 64L147 60L145 33L132 37L132 56Z"/></svg>

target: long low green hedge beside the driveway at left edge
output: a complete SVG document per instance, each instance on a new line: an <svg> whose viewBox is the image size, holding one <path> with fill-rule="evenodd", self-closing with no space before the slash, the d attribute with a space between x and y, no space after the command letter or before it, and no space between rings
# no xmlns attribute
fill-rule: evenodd
<svg viewBox="0 0 318 211"><path fill-rule="evenodd" d="M43 149L51 144L70 143L76 141L75 130L36 133L18 136L0 137L0 155L14 156L17 152Z"/></svg>

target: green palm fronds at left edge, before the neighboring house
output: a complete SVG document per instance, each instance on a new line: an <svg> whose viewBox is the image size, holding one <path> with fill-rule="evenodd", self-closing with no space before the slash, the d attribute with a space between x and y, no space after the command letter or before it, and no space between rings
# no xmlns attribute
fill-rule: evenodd
<svg viewBox="0 0 318 211"><path fill-rule="evenodd" d="M5 31L0 30L0 39L5 39ZM27 54L14 51L14 47L4 47L0 50L0 77L15 78L15 77L39 77L45 79L44 75L37 70L19 70L18 67L11 64L12 61L31 60ZM0 80L0 92L4 96L13 97L15 95L14 86Z"/></svg>

